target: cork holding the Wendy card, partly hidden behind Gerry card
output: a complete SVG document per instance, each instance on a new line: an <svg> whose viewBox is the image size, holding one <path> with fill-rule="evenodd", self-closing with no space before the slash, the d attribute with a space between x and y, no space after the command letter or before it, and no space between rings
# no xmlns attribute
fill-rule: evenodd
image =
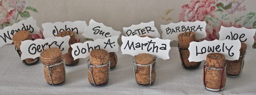
<svg viewBox="0 0 256 95"><path fill-rule="evenodd" d="M19 56L22 54L22 52L20 51L21 41L25 41L25 40L32 40L32 38L29 35L29 31L26 31L26 30L19 31L15 33L12 37L12 41L18 49ZM38 58L35 58L35 59L26 58L23 60L24 61L23 63L26 65L33 65L33 64L36 64L38 60L39 60Z"/></svg>

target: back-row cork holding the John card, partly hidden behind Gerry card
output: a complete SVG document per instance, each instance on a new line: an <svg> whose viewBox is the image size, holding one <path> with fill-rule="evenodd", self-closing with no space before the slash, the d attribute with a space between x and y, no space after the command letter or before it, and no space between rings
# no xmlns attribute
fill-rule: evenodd
<svg viewBox="0 0 256 95"><path fill-rule="evenodd" d="M65 36L70 36L69 39L69 46L76 43L76 39L75 39L75 35L73 31L63 31L57 34L57 37L65 37ZM64 60L66 61L65 64L66 66L75 66L78 62L79 59L74 60L74 58L72 57L72 48L68 48L68 53L63 54L62 57L64 58Z"/></svg>

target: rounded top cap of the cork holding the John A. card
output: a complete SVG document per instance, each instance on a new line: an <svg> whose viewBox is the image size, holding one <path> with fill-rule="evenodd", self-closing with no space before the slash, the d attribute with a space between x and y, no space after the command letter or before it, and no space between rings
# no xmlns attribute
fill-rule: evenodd
<svg viewBox="0 0 256 95"><path fill-rule="evenodd" d="M103 65L109 61L109 53L103 49L94 49L90 52L90 64Z"/></svg>

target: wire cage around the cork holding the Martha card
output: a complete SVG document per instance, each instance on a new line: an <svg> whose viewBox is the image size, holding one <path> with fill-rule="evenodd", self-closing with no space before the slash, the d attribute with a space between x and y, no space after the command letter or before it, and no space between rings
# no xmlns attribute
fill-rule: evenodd
<svg viewBox="0 0 256 95"><path fill-rule="evenodd" d="M142 64L137 64L136 63L136 57L134 57L132 59L132 67L133 67L133 72L134 72L134 79L136 81L136 83L140 86L150 86L154 83L155 79L156 79L156 72L155 72L155 68L156 68L156 59L157 57L155 56L154 57L154 62L150 63L150 64L147 64L147 65L142 65ZM146 72L146 76L148 79L140 79L142 80L142 82L144 82L144 84L142 83L139 83L139 79L137 77L139 76L136 76L136 73L140 72L140 71L144 71L143 68L147 68L149 67L149 72ZM153 73L154 72L154 73ZM145 73L144 73L145 74Z"/></svg>

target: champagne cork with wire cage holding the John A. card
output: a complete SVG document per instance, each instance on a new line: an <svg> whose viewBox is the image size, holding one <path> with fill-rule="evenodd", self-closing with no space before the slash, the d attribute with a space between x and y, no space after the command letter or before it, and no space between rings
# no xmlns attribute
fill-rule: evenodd
<svg viewBox="0 0 256 95"><path fill-rule="evenodd" d="M109 53L103 49L95 49L90 52L90 65L105 65L108 64ZM88 80L94 86L104 86L108 83L108 71L109 65L102 67L89 67L88 68ZM90 68L92 72L90 72ZM91 76L92 75L92 76ZM92 79L93 77L93 79Z"/></svg>

